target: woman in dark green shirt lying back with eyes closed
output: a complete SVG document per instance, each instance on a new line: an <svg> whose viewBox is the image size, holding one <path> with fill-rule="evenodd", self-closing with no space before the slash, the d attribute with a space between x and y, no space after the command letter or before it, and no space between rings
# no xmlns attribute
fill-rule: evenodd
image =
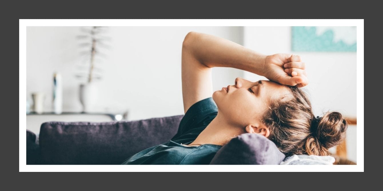
<svg viewBox="0 0 383 191"><path fill-rule="evenodd" d="M232 67L270 81L236 78L212 90L211 68ZM291 54L262 55L229 40L189 32L182 46L185 115L177 134L122 164L209 164L216 152L242 133L273 141L286 155L329 155L345 137L347 123L338 112L315 117L299 87L306 86L305 65Z"/></svg>

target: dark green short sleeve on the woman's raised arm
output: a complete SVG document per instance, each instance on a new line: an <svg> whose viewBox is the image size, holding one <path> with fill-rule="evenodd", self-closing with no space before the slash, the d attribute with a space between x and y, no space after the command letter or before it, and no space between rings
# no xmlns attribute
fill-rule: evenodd
<svg viewBox="0 0 383 191"><path fill-rule="evenodd" d="M206 127L217 116L217 113L218 107L212 97L196 102L191 105L183 116L178 126L177 134L171 140L187 133L191 129Z"/></svg>

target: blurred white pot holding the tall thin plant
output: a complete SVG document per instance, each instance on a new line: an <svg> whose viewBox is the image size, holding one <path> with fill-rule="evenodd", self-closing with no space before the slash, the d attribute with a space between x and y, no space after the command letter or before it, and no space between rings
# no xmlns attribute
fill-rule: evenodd
<svg viewBox="0 0 383 191"><path fill-rule="evenodd" d="M94 112L97 105L98 87L95 83L80 84L80 102L82 111L85 113Z"/></svg>

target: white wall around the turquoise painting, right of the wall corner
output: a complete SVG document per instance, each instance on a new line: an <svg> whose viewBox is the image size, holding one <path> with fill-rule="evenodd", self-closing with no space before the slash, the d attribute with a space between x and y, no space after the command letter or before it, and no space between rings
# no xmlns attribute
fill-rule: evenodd
<svg viewBox="0 0 383 191"><path fill-rule="evenodd" d="M292 52L291 27L244 27L244 46L260 53L292 53L306 63L309 84L305 86L311 98L314 114L339 111L356 117L356 52ZM244 78L266 79L245 72ZM347 131L347 152L356 161L356 126Z"/></svg>

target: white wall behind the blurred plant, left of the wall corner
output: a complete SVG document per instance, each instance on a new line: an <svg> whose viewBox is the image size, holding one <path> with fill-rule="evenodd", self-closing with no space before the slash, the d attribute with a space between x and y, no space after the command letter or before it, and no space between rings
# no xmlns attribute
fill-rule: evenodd
<svg viewBox="0 0 383 191"><path fill-rule="evenodd" d="M101 49L97 67L103 79L97 112L129 110L129 120L183 114L181 84L182 41L189 31L204 32L243 41L242 27L109 27L110 49ZM80 27L28 27L26 96L47 94L46 112L52 111L52 78L59 71L64 79L63 110L80 112L79 84L74 75L87 68L76 39ZM213 88L220 90L242 77L241 70L213 68ZM95 110L96 111L96 110Z"/></svg>

